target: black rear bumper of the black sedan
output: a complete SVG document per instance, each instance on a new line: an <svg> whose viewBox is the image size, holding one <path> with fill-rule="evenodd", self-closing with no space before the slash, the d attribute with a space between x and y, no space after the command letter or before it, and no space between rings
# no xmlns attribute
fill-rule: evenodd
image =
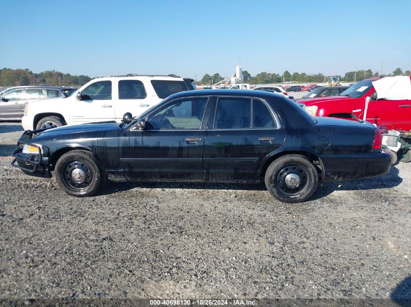
<svg viewBox="0 0 411 307"><path fill-rule="evenodd" d="M322 180L340 181L382 176L390 171L391 156L386 152L339 154L319 157Z"/></svg>

